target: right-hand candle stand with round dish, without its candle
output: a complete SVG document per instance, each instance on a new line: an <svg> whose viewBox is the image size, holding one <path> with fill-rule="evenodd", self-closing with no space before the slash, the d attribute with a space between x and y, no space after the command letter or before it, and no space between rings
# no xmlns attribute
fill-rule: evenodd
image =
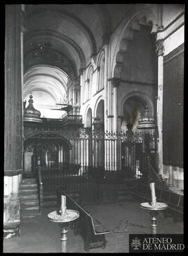
<svg viewBox="0 0 188 256"><path fill-rule="evenodd" d="M151 233L157 234L157 215L158 211L165 210L168 207L168 204L162 202L156 202L155 206L152 206L148 202L141 203L141 208L150 211L151 217Z"/></svg>

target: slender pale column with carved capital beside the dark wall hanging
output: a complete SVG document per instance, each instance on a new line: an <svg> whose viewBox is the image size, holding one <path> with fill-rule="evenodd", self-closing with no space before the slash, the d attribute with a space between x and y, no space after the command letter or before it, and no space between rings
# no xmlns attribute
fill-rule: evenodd
<svg viewBox="0 0 188 256"><path fill-rule="evenodd" d="M158 97L157 97L157 128L159 134L158 142L158 166L159 174L163 174L163 147L162 147L162 105L163 105L163 55L164 55L164 40L157 40L158 54Z"/></svg>

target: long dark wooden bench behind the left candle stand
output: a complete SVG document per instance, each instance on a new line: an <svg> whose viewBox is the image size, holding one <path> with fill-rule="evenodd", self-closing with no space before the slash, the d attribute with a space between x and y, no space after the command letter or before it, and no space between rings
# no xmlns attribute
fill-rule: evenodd
<svg viewBox="0 0 188 256"><path fill-rule="evenodd" d="M57 190L57 202L58 208L61 205L61 195L66 196L66 206L67 209L73 209L79 211L79 218L71 223L72 227L75 229L75 235L81 234L84 239L84 250L88 252L91 248L103 249L106 246L105 234L111 233L107 230L99 220L91 216L82 206L80 206L74 199L72 199L63 190Z"/></svg>

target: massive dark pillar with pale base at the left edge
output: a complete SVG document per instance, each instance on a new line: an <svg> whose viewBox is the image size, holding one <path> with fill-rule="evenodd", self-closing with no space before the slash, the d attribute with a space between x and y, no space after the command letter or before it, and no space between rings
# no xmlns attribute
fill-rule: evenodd
<svg viewBox="0 0 188 256"><path fill-rule="evenodd" d="M9 176L9 191L4 195L4 237L19 236L19 174L22 173L22 40L19 4L6 5L5 37L5 130L4 175Z"/></svg>

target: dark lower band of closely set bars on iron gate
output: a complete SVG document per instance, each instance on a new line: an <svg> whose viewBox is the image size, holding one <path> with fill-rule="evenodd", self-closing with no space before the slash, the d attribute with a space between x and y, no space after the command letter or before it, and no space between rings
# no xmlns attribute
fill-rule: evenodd
<svg viewBox="0 0 188 256"><path fill-rule="evenodd" d="M70 167L71 168L71 167ZM102 170L86 167L87 172L65 172L60 169L41 168L43 191L55 191L59 187L65 190L111 190L133 186L141 178L136 168L132 172L125 170ZM129 170L130 171L130 170Z"/></svg>

